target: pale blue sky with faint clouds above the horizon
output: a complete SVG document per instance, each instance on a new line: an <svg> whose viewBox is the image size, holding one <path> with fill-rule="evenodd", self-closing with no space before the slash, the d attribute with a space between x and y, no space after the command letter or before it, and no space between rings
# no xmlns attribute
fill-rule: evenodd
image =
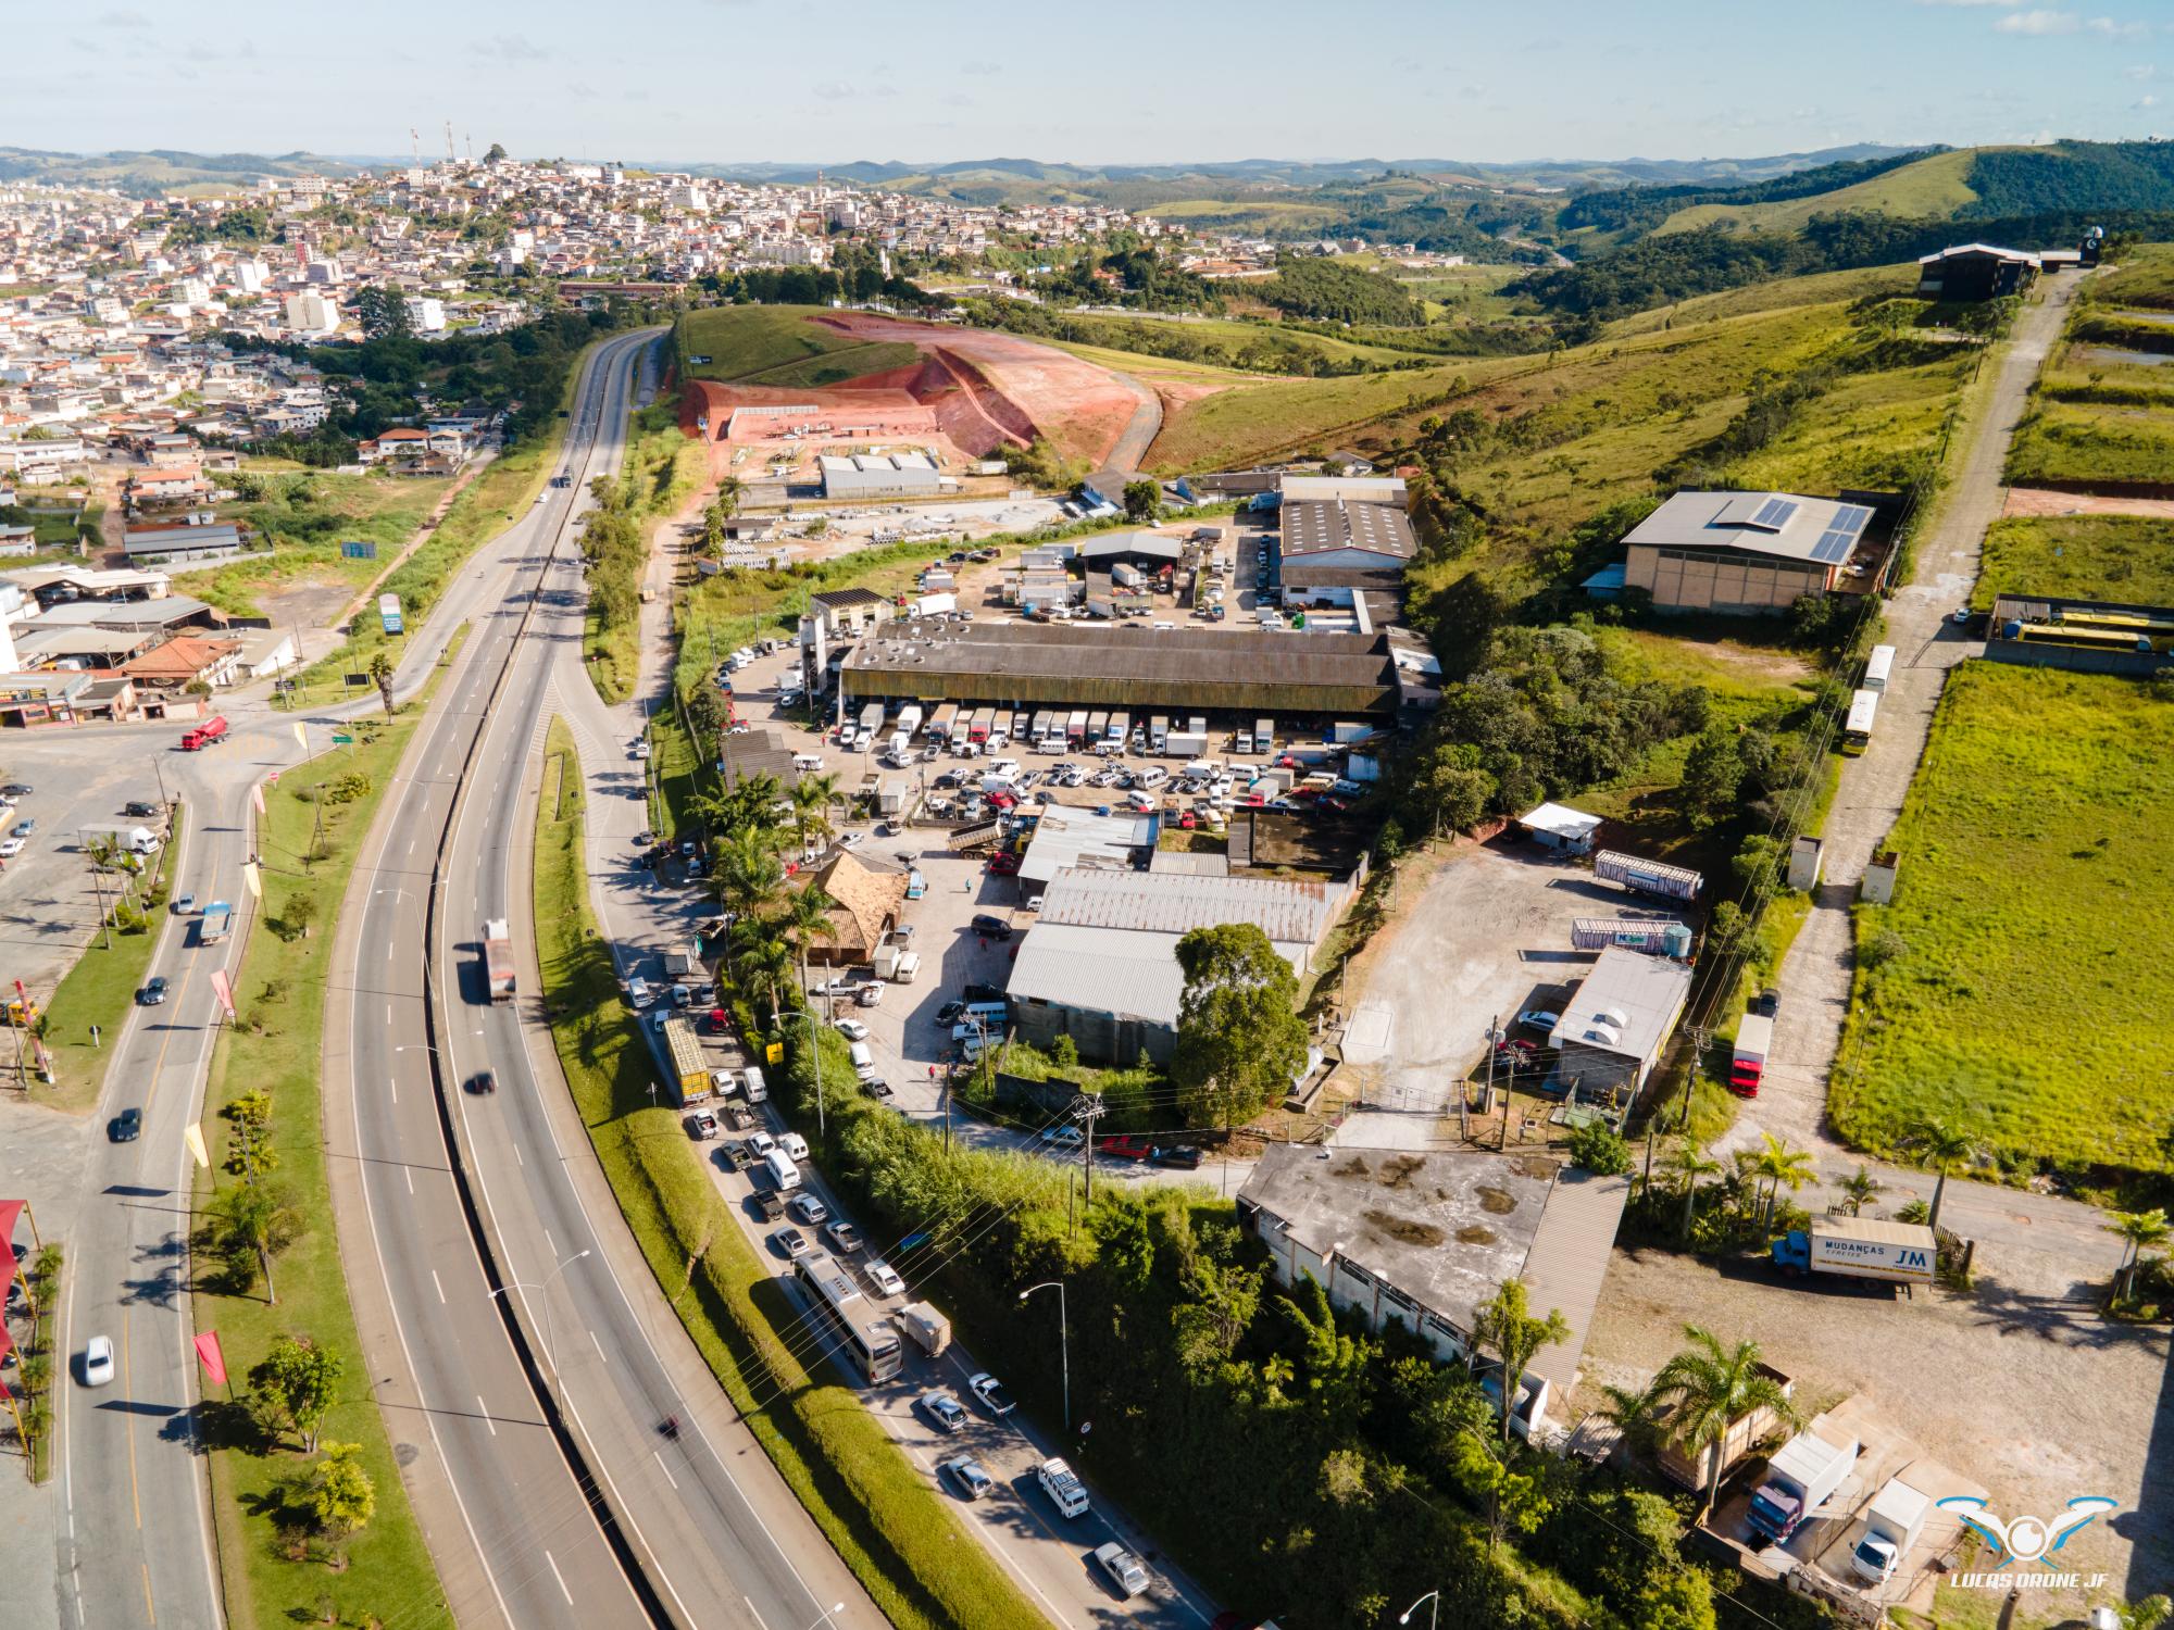
<svg viewBox="0 0 2174 1630"><path fill-rule="evenodd" d="M2102 11L2100 4L2113 7ZM1048 17L1048 22L1037 22ZM1713 159L2174 130L2174 0L0 0L0 146Z"/></svg>

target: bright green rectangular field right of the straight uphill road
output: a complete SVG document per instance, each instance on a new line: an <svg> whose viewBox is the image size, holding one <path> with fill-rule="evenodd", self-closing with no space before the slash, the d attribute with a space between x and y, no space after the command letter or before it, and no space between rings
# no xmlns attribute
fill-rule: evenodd
<svg viewBox="0 0 2174 1630"><path fill-rule="evenodd" d="M1891 1152L1931 1113L2002 1167L2165 1171L2174 709L2096 674L1965 663L1861 906L1831 1113Z"/></svg>

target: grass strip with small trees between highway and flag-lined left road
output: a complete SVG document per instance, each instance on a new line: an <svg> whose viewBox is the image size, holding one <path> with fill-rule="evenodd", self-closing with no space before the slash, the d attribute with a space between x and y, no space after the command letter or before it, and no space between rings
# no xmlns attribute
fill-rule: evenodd
<svg viewBox="0 0 2174 1630"><path fill-rule="evenodd" d="M454 648L459 641L454 643ZM443 676L443 667L437 669ZM317 1560L287 1560L280 1552L276 1513L283 1489L307 1476L309 1458L263 1452L241 1410L211 1406L211 1510L220 1541L220 1573L226 1584L226 1615L235 1630L274 1630L283 1623L317 1623L320 1604L335 1604L343 1623L367 1623L378 1615L400 1626L446 1626L452 1615L437 1584L430 1552L407 1504L400 1467L393 1463L385 1419L370 1395L339 1265L339 1243L330 1226L317 1095L320 1045L324 1035L324 987L339 902L354 854L391 785L400 752L422 717L409 702L393 722L357 724L357 745L339 748L302 769L280 776L265 793L261 852L265 893L261 917L235 978L239 1024L228 1028L211 1058L204 1087L204 1137L217 1169L226 1154L228 1124L217 1108L243 1091L272 1093L274 1182L289 1189L304 1219L302 1237L274 1263L278 1304L265 1306L261 1287L220 1293L200 1276L196 1324L217 1330L228 1371L246 1376L283 1332L307 1332L348 1361L339 1404L324 1419L324 1439L359 1443L361 1463L376 1487L370 1526L341 1543L346 1567ZM320 782L348 774L367 776L370 791L346 804L324 806L324 856L304 869L315 806L309 793ZM300 900L309 900L309 930L293 926ZM209 1200L213 1174L198 1176L198 1204ZM215 1276L215 1269L213 1269ZM213 1278L215 1282L215 1278Z"/></svg>

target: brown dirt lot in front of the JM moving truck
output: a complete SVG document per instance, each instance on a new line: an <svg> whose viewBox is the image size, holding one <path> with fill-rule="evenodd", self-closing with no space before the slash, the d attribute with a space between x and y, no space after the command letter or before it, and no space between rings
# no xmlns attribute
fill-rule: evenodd
<svg viewBox="0 0 2174 1630"><path fill-rule="evenodd" d="M1981 1287L1894 1302L1776 1280L1759 1265L1617 1250L1570 1417L1600 1402L1602 1382L1650 1380L1685 1324L1757 1339L1796 1378L1807 1413L1865 1393L1928 1454L1983 1482L2002 1515L2057 1513L2085 1493L2120 1500L2122 1513L2067 1543L2063 1567L2104 1569L2131 1597L2174 1589L2165 1328L2107 1326L2089 1297Z"/></svg>

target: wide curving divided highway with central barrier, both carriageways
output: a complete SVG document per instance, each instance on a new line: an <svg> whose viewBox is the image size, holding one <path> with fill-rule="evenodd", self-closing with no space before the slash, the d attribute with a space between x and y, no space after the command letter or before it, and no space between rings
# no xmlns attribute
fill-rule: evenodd
<svg viewBox="0 0 2174 1630"><path fill-rule="evenodd" d="M596 437L578 437L576 493L589 474L617 467L637 343L602 354L583 391L580 419ZM535 804L524 782L550 715L554 650L580 639L567 530L580 506L546 517L528 548L502 561L498 593L411 748L350 891L350 904L363 904L341 945L352 978L328 1043L343 1050L328 1058L328 1091L350 1098L374 1256L363 1274L378 1276L359 1302L383 1295L404 1361L378 1397L396 1437L430 1443L465 1530L433 1528L433 1500L422 1497L463 1626L804 1630L835 1604L848 1606L833 1623L874 1626L880 1615L770 1463L728 1415L720 1421L707 1371L700 1393L683 1395L674 1376L685 1365L670 1352L685 1334L639 1258L622 1284L624 1221L609 1195L594 1184L585 1193L591 1156L570 1148L580 1128L537 1089L522 1028L535 993L491 1004L485 991L483 921L509 917L524 932L530 917ZM526 945L515 963L528 963ZM496 1089L467 1091L485 1069ZM563 1098L557 1071L546 1078ZM467 1204L496 1278L474 1250ZM363 1247L343 1243L350 1261ZM493 1284L520 1302L526 1354ZM576 1482L539 1384L563 1400L591 1484ZM659 1430L667 1415L685 1419L676 1441ZM591 1500L613 1513L617 1543Z"/></svg>

